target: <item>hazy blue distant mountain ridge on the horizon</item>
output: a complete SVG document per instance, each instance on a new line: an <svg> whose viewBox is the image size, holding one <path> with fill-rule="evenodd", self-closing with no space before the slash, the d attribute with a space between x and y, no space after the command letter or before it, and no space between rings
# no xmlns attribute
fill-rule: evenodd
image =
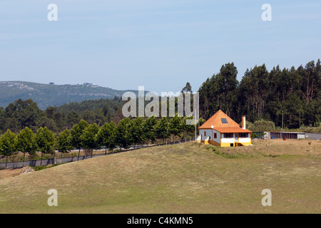
<svg viewBox="0 0 321 228"><path fill-rule="evenodd" d="M64 103L81 102L99 98L121 98L123 93L131 91L138 95L138 90L113 90L111 88L83 85L54 85L31 83L26 81L0 81L0 107L6 108L9 103L21 98L32 99L41 109Z"/></svg>

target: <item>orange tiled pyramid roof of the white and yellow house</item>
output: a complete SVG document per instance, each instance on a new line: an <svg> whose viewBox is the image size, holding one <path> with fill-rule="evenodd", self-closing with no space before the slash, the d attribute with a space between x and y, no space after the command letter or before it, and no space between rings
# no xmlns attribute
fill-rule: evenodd
<svg viewBox="0 0 321 228"><path fill-rule="evenodd" d="M226 118L226 120L228 120L228 123L222 123L221 118ZM223 113L222 110L218 110L218 112L216 112L198 129L212 129L212 126L220 133L251 133L250 130L241 128L238 123L236 123L228 115Z"/></svg>

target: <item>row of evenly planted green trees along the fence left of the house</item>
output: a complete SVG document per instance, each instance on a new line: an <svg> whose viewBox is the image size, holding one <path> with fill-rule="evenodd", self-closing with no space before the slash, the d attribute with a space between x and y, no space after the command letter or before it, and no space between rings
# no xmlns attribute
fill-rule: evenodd
<svg viewBox="0 0 321 228"><path fill-rule="evenodd" d="M58 135L49 130L49 128L39 128L34 133L28 127L25 127L19 134L6 130L6 133L0 137L0 155L6 156L8 162L9 155L16 152L25 155L34 155L37 151L41 152L41 165L43 153L54 154L56 160L56 150L61 153L70 152L74 148L78 150L78 158L81 148L97 150L105 148L113 150L116 147L128 148L131 145L142 145L154 143L156 140L163 140L167 143L171 135L180 138L188 138L194 133L194 125L186 125L185 120L175 115L173 118L124 118L115 123L104 123L101 128L96 123L89 124L86 120L81 120L73 125L71 130L68 128ZM61 154L62 155L62 154Z"/></svg>

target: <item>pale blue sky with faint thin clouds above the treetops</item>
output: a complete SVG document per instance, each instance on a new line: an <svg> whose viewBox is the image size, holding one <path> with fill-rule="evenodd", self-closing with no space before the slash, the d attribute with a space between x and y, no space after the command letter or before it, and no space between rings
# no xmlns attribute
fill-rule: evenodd
<svg viewBox="0 0 321 228"><path fill-rule="evenodd" d="M195 91L229 62L240 81L255 65L317 61L320 28L321 1L1 0L0 81Z"/></svg>

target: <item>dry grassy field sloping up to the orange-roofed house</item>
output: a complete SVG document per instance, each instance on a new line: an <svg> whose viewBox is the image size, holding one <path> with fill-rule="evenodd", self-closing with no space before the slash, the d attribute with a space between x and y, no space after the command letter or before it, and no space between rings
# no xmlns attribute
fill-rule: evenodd
<svg viewBox="0 0 321 228"><path fill-rule="evenodd" d="M1 172L1 213L321 212L321 143L313 140L229 148L188 142ZM47 204L50 189L58 207ZM264 189L272 191L271 207L261 204Z"/></svg>

